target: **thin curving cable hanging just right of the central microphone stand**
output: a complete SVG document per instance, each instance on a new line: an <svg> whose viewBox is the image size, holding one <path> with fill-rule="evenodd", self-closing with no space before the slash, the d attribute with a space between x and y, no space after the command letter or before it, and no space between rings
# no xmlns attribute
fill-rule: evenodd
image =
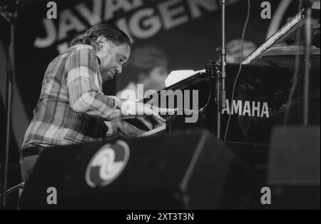
<svg viewBox="0 0 321 224"><path fill-rule="evenodd" d="M250 19L250 9L251 9L251 4L250 4L250 0L248 0L248 14L246 16L246 20L245 20L245 24L244 24L244 28L243 28L243 33L242 33L242 45L241 45L241 57L240 57L240 67L238 68L238 74L236 75L235 81L234 81L234 85L233 85L233 91L232 91L232 98L230 101L230 108L232 108L233 106L233 98L235 95L235 88L236 88L236 84L238 83L238 78L240 76L240 72L242 71L242 66L243 66L243 57L244 57L244 37L245 37L245 31L246 28L248 27L248 21ZM228 137L228 128L230 126L230 120L232 118L232 114L230 113L230 116L228 116L228 123L226 125L226 129L225 129L225 136L224 136L224 143L226 141L226 138Z"/></svg>

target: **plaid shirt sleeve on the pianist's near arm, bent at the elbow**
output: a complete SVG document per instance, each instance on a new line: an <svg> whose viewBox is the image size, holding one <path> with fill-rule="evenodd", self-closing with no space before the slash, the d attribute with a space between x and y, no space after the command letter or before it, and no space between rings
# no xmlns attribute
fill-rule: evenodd
<svg viewBox="0 0 321 224"><path fill-rule="evenodd" d="M77 49L66 60L69 103L73 111L111 120L121 116L121 101L106 96L98 81L98 59L93 49Z"/></svg>

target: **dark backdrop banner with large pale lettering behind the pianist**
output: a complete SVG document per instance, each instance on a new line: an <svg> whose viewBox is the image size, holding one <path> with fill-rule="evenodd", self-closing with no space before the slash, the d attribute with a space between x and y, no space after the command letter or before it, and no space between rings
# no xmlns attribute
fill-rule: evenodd
<svg viewBox="0 0 321 224"><path fill-rule="evenodd" d="M48 1L25 1L19 8L16 26L16 80L14 91L14 148L19 148L32 118L41 90L41 81L50 61L68 47L75 34L89 26L108 22L131 36L133 48L156 46L168 58L168 70L205 68L209 59L218 59L220 46L220 0L93 0L54 1L57 19L47 18ZM245 40L256 46L285 24L297 11L297 1L251 0L250 22ZM271 6L271 19L261 12ZM230 0L227 7L227 41L240 39L248 9L245 0ZM4 93L9 25L0 19L0 114L4 115ZM1 43L0 43L1 44ZM1 52L2 51L2 52ZM104 84L108 94L116 93L116 82ZM0 117L1 136L5 116ZM4 138L1 138L4 139ZM3 146L3 141L1 141ZM1 147L3 148L3 147ZM18 151L18 150L16 150Z"/></svg>

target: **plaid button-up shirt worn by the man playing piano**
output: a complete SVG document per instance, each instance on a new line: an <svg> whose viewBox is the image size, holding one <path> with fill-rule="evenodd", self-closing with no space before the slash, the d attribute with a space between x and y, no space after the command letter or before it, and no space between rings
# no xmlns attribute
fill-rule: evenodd
<svg viewBox="0 0 321 224"><path fill-rule="evenodd" d="M121 116L121 101L103 94L99 66L95 50L83 44L51 61L22 148L65 146L107 137L110 131L104 121Z"/></svg>

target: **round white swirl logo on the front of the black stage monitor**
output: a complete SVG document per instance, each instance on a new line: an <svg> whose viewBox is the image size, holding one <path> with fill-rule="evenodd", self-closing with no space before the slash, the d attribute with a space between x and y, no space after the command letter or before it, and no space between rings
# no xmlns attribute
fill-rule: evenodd
<svg viewBox="0 0 321 224"><path fill-rule="evenodd" d="M129 147L124 141L108 143L97 151L86 169L86 182L91 188L103 188L116 180L126 167Z"/></svg>

